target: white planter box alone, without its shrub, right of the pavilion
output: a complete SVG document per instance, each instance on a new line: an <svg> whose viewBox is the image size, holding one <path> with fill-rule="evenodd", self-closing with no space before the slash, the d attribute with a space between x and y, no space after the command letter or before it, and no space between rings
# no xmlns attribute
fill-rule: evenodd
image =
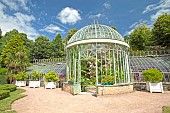
<svg viewBox="0 0 170 113"><path fill-rule="evenodd" d="M150 91L151 93L152 92L162 92L162 93L164 92L162 82L159 82L159 83L147 82L146 89L147 91Z"/></svg>

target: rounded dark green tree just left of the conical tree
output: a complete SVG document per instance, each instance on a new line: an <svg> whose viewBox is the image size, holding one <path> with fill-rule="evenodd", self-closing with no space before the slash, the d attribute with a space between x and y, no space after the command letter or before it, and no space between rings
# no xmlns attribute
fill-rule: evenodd
<svg viewBox="0 0 170 113"><path fill-rule="evenodd" d="M39 36L35 39L33 50L31 51L33 58L43 59L52 57L52 43L49 38Z"/></svg>

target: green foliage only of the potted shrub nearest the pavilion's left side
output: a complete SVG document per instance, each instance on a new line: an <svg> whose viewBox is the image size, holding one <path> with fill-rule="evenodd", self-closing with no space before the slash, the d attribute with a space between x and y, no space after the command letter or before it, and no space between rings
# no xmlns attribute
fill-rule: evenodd
<svg viewBox="0 0 170 113"><path fill-rule="evenodd" d="M56 82L59 81L57 74L54 71L48 72L45 74L45 81L46 82Z"/></svg>

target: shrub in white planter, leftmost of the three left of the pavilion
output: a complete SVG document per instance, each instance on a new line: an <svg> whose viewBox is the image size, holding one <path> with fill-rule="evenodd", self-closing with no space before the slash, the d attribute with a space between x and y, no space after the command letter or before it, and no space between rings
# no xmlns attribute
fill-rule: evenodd
<svg viewBox="0 0 170 113"><path fill-rule="evenodd" d="M26 86L26 80L28 79L28 74L25 72L19 72L18 74L14 75L16 79L15 85L16 86Z"/></svg>

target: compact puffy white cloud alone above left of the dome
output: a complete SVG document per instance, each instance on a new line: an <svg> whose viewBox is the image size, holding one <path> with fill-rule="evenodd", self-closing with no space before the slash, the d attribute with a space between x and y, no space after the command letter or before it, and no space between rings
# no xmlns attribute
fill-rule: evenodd
<svg viewBox="0 0 170 113"><path fill-rule="evenodd" d="M76 9L71 7L66 7L57 15L57 18L63 24L75 24L77 21L81 20L81 16Z"/></svg>

